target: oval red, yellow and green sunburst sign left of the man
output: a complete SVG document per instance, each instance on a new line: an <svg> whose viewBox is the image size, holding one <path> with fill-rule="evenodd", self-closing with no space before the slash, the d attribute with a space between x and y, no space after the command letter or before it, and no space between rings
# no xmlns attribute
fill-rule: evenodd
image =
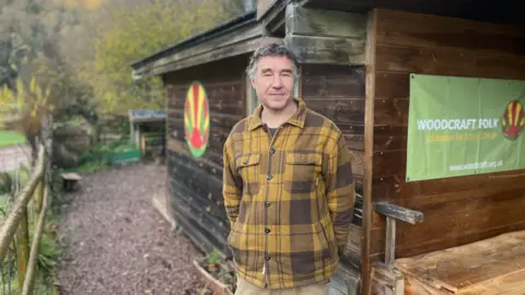
<svg viewBox="0 0 525 295"><path fill-rule="evenodd" d="M184 130L191 155L200 157L206 152L210 129L210 110L205 87L194 82L186 94Z"/></svg>

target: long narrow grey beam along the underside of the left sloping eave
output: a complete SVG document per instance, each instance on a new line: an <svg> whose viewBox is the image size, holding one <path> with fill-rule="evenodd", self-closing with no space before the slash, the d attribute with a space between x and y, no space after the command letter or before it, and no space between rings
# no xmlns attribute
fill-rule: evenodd
<svg viewBox="0 0 525 295"><path fill-rule="evenodd" d="M172 71L177 71L180 69L207 63L214 60L220 60L229 57L234 57L243 54L248 54L255 51L257 47L262 44L278 43L281 42L279 38L254 38L249 40L243 40L237 44L232 44L225 47L210 49L207 52L188 57L183 60L172 61L156 68L153 64L143 67L140 71L133 71L133 79L142 79L145 76L164 74Z"/></svg>

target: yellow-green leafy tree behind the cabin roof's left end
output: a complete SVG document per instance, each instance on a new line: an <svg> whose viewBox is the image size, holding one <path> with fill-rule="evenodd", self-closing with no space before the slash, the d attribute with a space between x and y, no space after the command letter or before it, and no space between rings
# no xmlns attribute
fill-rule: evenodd
<svg viewBox="0 0 525 295"><path fill-rule="evenodd" d="M82 80L89 81L94 88L98 110L121 113L129 108L162 108L161 80L150 78L137 83L131 79L129 64L238 13L225 3L230 2L119 2L104 4L102 11L89 14L94 22L91 35L93 60L85 60L80 73Z"/></svg>

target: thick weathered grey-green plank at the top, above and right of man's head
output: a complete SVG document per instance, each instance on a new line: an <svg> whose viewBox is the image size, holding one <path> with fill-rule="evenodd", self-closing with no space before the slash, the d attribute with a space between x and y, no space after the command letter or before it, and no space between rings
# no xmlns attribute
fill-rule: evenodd
<svg viewBox="0 0 525 295"><path fill-rule="evenodd" d="M366 37L366 15L351 12L310 9L290 3L285 13L287 35L325 37Z"/></svg>

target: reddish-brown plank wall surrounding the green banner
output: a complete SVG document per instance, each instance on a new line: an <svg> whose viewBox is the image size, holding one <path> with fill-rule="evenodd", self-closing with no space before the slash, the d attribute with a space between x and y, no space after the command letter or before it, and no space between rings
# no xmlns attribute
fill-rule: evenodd
<svg viewBox="0 0 525 295"><path fill-rule="evenodd" d="M405 182L409 73L525 80L525 34L460 19L376 10L372 201L422 211L398 223L396 257L410 257L525 229L525 170ZM368 90L369 91L369 90ZM369 97L368 97L369 98ZM375 213L371 257L383 259Z"/></svg>

